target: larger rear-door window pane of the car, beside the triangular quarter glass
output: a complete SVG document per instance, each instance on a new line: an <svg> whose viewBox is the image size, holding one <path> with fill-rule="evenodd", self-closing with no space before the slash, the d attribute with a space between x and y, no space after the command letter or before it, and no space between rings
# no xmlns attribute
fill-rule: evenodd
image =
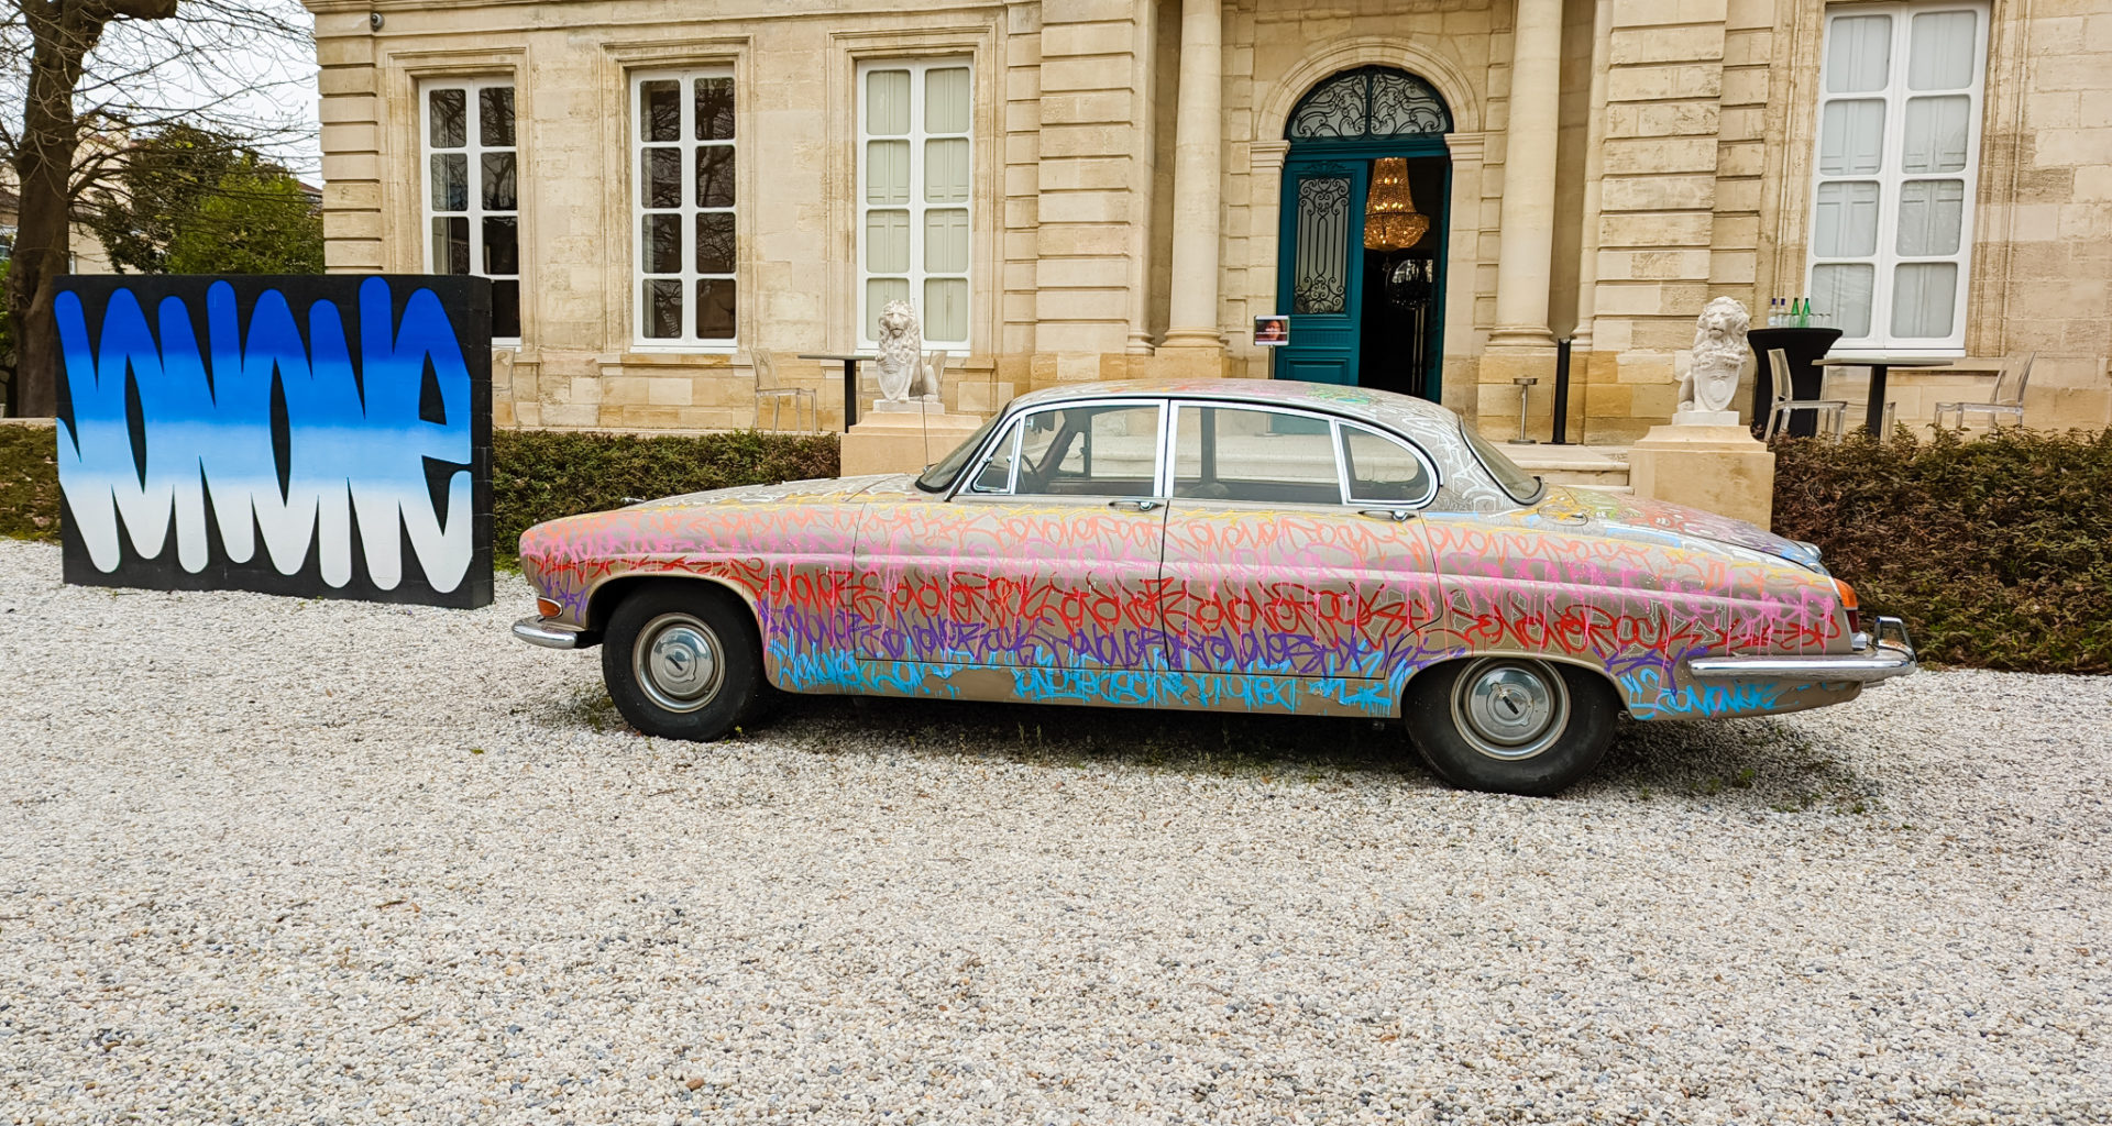
<svg viewBox="0 0 2112 1126"><path fill-rule="evenodd" d="M1183 404L1174 418L1174 496L1339 505L1335 433L1324 418Z"/></svg>

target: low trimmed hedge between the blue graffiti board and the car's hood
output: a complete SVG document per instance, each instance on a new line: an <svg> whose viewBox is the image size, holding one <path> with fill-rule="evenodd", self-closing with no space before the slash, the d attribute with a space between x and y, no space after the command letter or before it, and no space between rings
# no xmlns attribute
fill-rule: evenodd
<svg viewBox="0 0 2112 1126"><path fill-rule="evenodd" d="M530 524L631 499L836 475L836 435L760 431L634 437L579 431L492 435L492 551L511 560Z"/></svg>

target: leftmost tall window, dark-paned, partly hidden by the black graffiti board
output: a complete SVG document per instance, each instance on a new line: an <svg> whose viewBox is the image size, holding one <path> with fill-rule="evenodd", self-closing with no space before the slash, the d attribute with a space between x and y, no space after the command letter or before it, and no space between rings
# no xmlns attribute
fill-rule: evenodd
<svg viewBox="0 0 2112 1126"><path fill-rule="evenodd" d="M492 338L522 336L522 205L513 82L427 82L425 268L492 279Z"/></svg>

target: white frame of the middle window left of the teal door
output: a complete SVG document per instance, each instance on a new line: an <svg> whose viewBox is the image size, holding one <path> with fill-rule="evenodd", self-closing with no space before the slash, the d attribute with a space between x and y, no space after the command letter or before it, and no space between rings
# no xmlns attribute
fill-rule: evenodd
<svg viewBox="0 0 2112 1126"><path fill-rule="evenodd" d="M724 78L733 82L733 137L729 139L697 139L697 89L699 78ZM646 82L676 82L680 108L680 118L676 125L674 142L648 142L644 135L644 106L640 95ZM741 332L741 319L748 311L748 283L741 281L741 203L748 196L743 190L743 167L741 139L746 129L741 127L741 85L731 63L712 65L640 65L631 68L625 76L625 104L623 104L623 129L627 133L625 152L629 156L629 171L625 173L627 184L627 215L629 215L629 342L627 346L638 353L684 353L684 355L733 355L743 344L748 334ZM680 158L678 167L682 173L682 201L676 207L646 207L646 177L644 177L644 152L648 148L674 148ZM733 205L729 207L703 207L697 203L697 150L701 148L731 148L733 150ZM646 215L680 215L682 232L678 245L682 251L682 268L678 273L646 273ZM701 273L697 270L697 218L699 215L733 215L733 268L729 273ZM682 285L682 334L680 336L646 336L646 281L678 281ZM731 281L733 283L733 336L699 336L697 334L697 283L699 281Z"/></svg>

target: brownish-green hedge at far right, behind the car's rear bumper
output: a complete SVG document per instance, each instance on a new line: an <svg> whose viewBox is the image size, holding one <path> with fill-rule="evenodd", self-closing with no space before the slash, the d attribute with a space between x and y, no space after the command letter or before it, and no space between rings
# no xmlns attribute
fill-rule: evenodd
<svg viewBox="0 0 2112 1126"><path fill-rule="evenodd" d="M1932 661L2112 672L2112 431L1783 442L1774 530Z"/></svg>

